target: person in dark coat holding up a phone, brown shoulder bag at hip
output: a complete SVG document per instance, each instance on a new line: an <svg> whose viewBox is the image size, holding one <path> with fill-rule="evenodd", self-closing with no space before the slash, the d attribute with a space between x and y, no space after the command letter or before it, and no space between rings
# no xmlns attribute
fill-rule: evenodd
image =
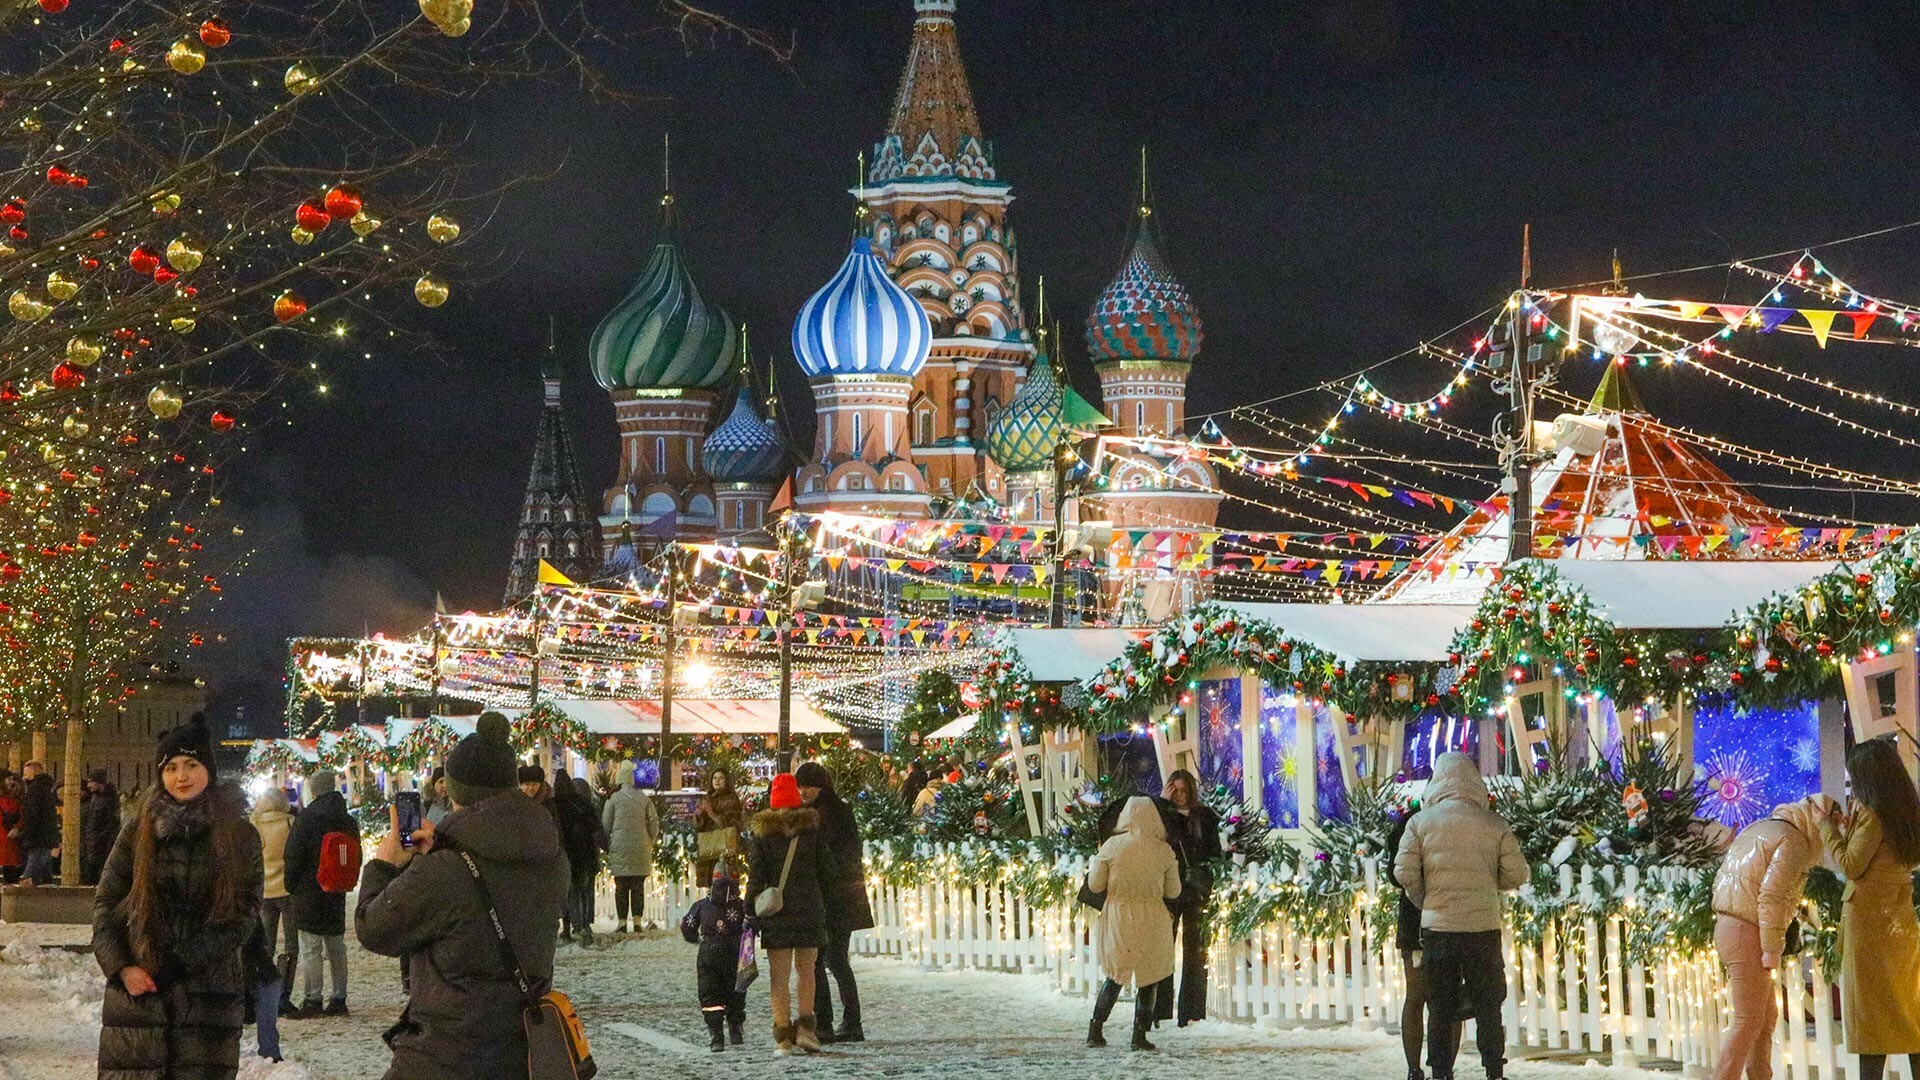
<svg viewBox="0 0 1920 1080"><path fill-rule="evenodd" d="M409 957L413 970L407 1009L386 1032L388 1080L526 1074L520 988L468 855L528 990L553 988L553 920L570 886L566 851L547 809L515 790L507 721L492 717L447 757L453 813L422 828L411 851L397 838L382 840L361 872L353 915L361 945Z"/></svg>

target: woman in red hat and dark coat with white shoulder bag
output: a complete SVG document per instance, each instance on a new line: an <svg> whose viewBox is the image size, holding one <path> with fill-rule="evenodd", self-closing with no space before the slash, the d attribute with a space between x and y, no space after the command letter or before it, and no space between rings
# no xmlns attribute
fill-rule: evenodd
<svg viewBox="0 0 1920 1080"><path fill-rule="evenodd" d="M760 934L772 969L776 1053L820 1053L820 1030L814 1022L814 963L828 938L828 849L820 838L820 811L801 803L801 786L791 773L774 776L766 794L768 809L753 815L753 844L747 849L747 915ZM793 867L781 888L781 907L776 915L758 915L760 894L780 886L787 851ZM789 997L791 976L799 972L799 995ZM793 1005L803 1009L791 1020Z"/></svg>

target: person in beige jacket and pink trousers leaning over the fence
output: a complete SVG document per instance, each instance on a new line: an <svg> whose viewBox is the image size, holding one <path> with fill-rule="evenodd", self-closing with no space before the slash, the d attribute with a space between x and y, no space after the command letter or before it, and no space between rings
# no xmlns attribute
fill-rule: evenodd
<svg viewBox="0 0 1920 1080"><path fill-rule="evenodd" d="M1713 876L1713 945L1726 965L1734 1022L1720 1042L1715 1080L1770 1080L1774 982L1788 924L1799 909L1807 871L1820 857L1820 819L1834 799L1809 796L1743 828Z"/></svg>

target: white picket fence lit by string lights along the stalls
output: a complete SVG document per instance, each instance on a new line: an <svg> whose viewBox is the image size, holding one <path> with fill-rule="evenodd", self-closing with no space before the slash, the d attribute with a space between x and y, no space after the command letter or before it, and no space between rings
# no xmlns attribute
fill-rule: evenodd
<svg viewBox="0 0 1920 1080"><path fill-rule="evenodd" d="M929 846L924 859L935 872L925 884L897 888L870 882L876 926L854 936L854 953L897 957L925 969L1037 972L1069 995L1087 995L1100 984L1094 911L1071 901L1031 907L1008 886L964 884L958 874L941 872L956 857L956 849ZM1077 878L1085 861L1073 859L1060 871ZM1279 886L1267 878L1258 884ZM1619 884L1615 892L1624 899L1624 911L1588 917L1584 934L1569 934L1567 942L1549 934L1538 945L1517 947L1511 930L1505 934L1507 1043L1528 1057L1678 1063L1686 1074L1705 1076L1730 1020L1720 965L1711 953L1630 961L1626 920L1638 909L1638 871L1624 869ZM1369 896L1377 888L1377 882L1367 882ZM1594 867L1561 867L1559 890L1578 907L1601 907ZM697 896L682 882L655 884L647 915L670 926ZM611 911L611 899L601 903L603 915ZM1302 936L1284 922L1263 926L1250 938L1215 934L1208 970L1208 1013L1215 1019L1361 1028L1400 1022L1405 986L1392 930L1377 936L1359 907L1350 915L1346 932L1331 938ZM1818 965L1811 957L1788 957L1776 980L1784 1007L1774 1038L1774 1074L1780 1080L1855 1076L1855 1059L1841 1045L1837 994L1820 976ZM1463 1047L1471 1059L1471 1032ZM1907 1076L1905 1061L1891 1061L1889 1074Z"/></svg>

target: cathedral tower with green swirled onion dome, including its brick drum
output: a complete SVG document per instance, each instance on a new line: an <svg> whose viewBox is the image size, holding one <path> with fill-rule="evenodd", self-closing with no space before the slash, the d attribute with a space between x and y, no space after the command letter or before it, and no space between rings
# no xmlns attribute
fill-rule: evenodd
<svg viewBox="0 0 1920 1080"><path fill-rule="evenodd" d="M641 550L714 536L701 444L714 402L733 380L737 344L732 315L707 304L680 258L674 213L672 184L662 181L653 258L589 344L593 377L612 394L620 425L620 471L607 490L601 532L611 544L626 528Z"/></svg>

